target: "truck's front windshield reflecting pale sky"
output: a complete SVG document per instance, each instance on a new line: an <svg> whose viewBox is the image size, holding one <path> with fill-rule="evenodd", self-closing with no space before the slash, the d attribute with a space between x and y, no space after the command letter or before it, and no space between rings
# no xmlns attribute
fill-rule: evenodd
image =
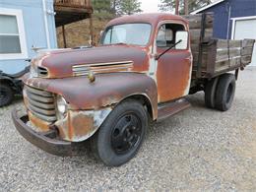
<svg viewBox="0 0 256 192"><path fill-rule="evenodd" d="M103 34L101 44L134 44L145 46L151 35L150 24L123 24L112 26Z"/></svg>

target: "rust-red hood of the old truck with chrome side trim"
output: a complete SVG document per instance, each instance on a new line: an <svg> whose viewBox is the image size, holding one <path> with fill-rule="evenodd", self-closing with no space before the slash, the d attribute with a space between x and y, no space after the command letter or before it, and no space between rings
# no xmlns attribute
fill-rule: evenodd
<svg viewBox="0 0 256 192"><path fill-rule="evenodd" d="M118 53L118 54L116 54ZM68 78L75 76L72 70L73 66L87 66L92 71L97 70L100 73L118 72L123 66L102 65L99 67L90 67L100 63L116 63L120 61L132 61L133 65L126 71L145 72L149 68L147 52L138 46L133 45L108 45L90 48L87 50L66 50L48 53L41 60L34 60L33 63L44 67L48 70L47 78ZM115 68L113 68L115 67ZM119 69L118 69L119 67ZM105 70L105 71L103 71Z"/></svg>

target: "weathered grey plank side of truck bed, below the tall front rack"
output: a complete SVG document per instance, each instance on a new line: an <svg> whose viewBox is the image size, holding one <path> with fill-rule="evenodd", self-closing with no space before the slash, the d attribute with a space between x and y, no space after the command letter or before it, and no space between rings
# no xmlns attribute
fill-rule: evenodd
<svg viewBox="0 0 256 192"><path fill-rule="evenodd" d="M254 39L212 39L204 43L202 50L202 78L216 77L222 73L244 68L250 64L254 42ZM195 57L197 54L194 54ZM197 61L194 60L194 65L196 64Z"/></svg>

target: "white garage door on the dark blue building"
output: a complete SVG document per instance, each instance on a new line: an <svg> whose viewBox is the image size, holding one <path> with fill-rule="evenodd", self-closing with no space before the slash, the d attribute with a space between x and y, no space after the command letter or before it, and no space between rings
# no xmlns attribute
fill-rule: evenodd
<svg viewBox="0 0 256 192"><path fill-rule="evenodd" d="M234 26L234 39L254 38L256 39L256 19L236 20ZM250 66L256 66L256 45Z"/></svg>

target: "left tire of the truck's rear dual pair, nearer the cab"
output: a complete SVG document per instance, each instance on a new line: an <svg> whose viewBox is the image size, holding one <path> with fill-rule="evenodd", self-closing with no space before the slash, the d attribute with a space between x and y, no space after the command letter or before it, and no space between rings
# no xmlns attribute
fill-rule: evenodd
<svg viewBox="0 0 256 192"><path fill-rule="evenodd" d="M216 101L216 88L218 85L219 78L214 78L207 82L205 88L205 103L209 108L215 108Z"/></svg>

